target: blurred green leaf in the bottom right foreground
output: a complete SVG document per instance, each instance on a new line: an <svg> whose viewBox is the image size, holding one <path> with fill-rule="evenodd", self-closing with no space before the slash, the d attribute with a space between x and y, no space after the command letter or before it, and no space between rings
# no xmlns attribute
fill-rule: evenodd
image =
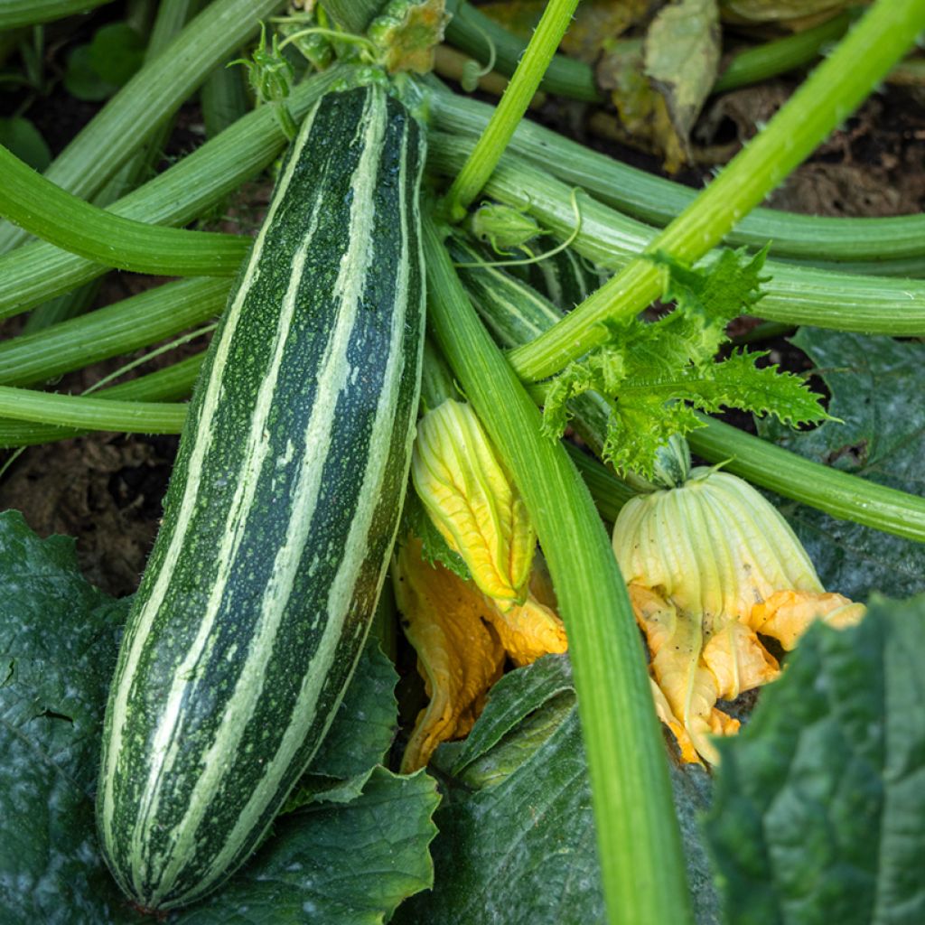
<svg viewBox="0 0 925 925"><path fill-rule="evenodd" d="M817 624L746 730L707 822L730 925L925 921L925 597Z"/></svg>

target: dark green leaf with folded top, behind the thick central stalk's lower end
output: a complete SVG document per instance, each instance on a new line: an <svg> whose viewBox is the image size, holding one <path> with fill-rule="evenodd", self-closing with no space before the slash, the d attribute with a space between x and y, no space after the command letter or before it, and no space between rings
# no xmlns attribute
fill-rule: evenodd
<svg viewBox="0 0 925 925"><path fill-rule="evenodd" d="M561 925L605 919L584 747L569 661L547 656L506 674L462 743L440 746L448 789L433 845L436 882L396 925ZM697 813L699 769L672 768L688 876L701 925L718 922Z"/></svg>

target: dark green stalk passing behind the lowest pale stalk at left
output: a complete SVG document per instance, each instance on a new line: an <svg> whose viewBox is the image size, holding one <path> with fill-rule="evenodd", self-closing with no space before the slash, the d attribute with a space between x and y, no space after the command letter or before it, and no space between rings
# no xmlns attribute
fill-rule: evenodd
<svg viewBox="0 0 925 925"><path fill-rule="evenodd" d="M96 396L100 401L179 401L188 398L196 377L203 365L205 354L196 353L147 376L130 382L101 389ZM185 408L185 405L180 405ZM36 443L52 443L89 433L87 427L36 424L28 421L11 421L0 418L0 449L28 447Z"/></svg>

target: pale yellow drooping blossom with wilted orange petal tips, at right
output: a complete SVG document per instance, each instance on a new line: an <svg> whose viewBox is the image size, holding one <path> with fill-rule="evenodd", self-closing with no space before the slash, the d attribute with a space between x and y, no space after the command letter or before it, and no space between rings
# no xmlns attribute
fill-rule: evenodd
<svg viewBox="0 0 925 925"><path fill-rule="evenodd" d="M857 623L862 604L827 593L796 534L735 475L700 467L677 487L630 500L613 551L646 635L656 711L685 761L739 723L716 707L774 680L759 635L790 650L810 623Z"/></svg>

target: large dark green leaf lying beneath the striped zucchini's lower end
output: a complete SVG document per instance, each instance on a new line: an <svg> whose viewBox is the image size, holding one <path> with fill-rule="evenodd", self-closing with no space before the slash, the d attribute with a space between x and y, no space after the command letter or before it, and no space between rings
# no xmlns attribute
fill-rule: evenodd
<svg viewBox="0 0 925 925"><path fill-rule="evenodd" d="M83 579L71 540L40 540L18 512L0 514L0 586L0 921L151 921L109 877L93 822L105 695L128 602ZM311 910L318 925L375 925L429 885L435 784L376 767L394 733L395 680L376 644L367 647L313 767L314 780L340 784L338 802L277 820L226 887L166 923L295 925Z"/></svg>

